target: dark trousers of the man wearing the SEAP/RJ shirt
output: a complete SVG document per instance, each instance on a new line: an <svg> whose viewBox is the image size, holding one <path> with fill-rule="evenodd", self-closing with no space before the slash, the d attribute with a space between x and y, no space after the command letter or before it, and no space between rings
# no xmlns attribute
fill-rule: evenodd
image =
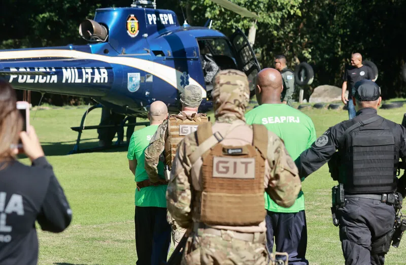
<svg viewBox="0 0 406 265"><path fill-rule="evenodd" d="M289 254L289 265L309 265L305 258L308 241L306 214L276 213L266 210L266 247L272 252L274 237L277 252ZM285 260L283 256L277 256Z"/></svg>

